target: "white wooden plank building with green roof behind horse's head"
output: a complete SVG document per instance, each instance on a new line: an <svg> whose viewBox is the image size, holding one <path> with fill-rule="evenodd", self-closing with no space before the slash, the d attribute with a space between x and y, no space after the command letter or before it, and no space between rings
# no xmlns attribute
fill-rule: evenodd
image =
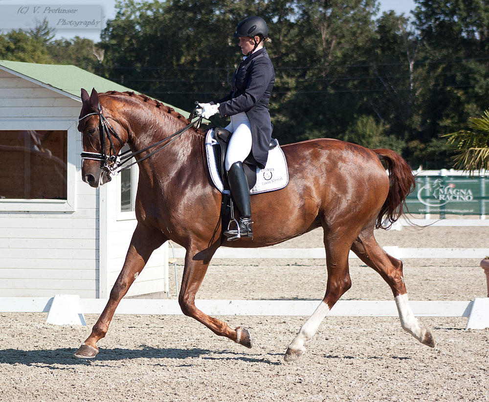
<svg viewBox="0 0 489 402"><path fill-rule="evenodd" d="M0 297L107 298L122 268L137 167L99 189L82 181L81 87L128 90L74 66L0 61ZM167 264L165 244L127 296L168 292Z"/></svg>

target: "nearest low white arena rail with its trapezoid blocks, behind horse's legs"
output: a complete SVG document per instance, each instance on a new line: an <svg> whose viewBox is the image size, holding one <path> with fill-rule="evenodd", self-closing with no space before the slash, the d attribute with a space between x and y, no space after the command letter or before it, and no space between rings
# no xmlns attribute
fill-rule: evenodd
<svg viewBox="0 0 489 402"><path fill-rule="evenodd" d="M319 300L196 300L210 315L310 316ZM78 295L54 297L0 297L3 313L48 313L46 322L55 325L86 325L84 314L102 313L106 299L81 299ZM467 329L489 327L489 298L473 301L411 301L416 316L469 317ZM177 300L122 299L116 314L181 315ZM354 317L398 316L392 301L340 300L329 315Z"/></svg>

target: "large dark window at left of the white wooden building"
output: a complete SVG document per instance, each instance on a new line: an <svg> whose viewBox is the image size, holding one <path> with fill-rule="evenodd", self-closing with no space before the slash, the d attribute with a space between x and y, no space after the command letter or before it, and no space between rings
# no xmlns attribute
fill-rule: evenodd
<svg viewBox="0 0 489 402"><path fill-rule="evenodd" d="M67 131L0 130L0 199L67 200Z"/></svg>

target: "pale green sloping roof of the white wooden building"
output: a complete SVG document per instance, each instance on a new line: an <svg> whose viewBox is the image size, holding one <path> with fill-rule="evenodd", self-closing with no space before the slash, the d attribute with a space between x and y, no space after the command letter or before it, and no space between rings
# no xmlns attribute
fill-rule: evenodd
<svg viewBox="0 0 489 402"><path fill-rule="evenodd" d="M0 60L0 66L37 80L46 86L60 89L78 98L80 98L81 88L87 89L89 93L92 88L97 89L98 92L107 92L111 90L120 92L133 91L133 89L116 84L115 82L106 80L105 78L75 66L22 63L7 60ZM134 92L138 93L137 91ZM171 106L175 111L183 114L185 117L188 117L189 115L189 112L175 108L166 102L165 105Z"/></svg>

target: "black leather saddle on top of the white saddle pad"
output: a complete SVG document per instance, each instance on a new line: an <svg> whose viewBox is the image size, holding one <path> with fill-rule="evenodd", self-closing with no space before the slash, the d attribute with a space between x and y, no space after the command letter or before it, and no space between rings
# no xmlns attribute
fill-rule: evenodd
<svg viewBox="0 0 489 402"><path fill-rule="evenodd" d="M219 176L222 179L222 183L224 185L225 190L229 190L229 184L227 182L226 178L226 170L224 167L224 161L226 158L226 152L227 152L227 146L229 145L229 139L231 138L231 132L220 128L216 127L214 130L214 138L217 140L219 146L214 147L215 149L215 154L216 154L216 164L219 172ZM277 140L275 138L272 138L270 140L269 148L268 150L271 150L275 148L278 145ZM258 166L258 163L255 161L255 158L250 154L244 159L243 161L243 169L244 169L244 174L246 175L246 180L248 181L248 188L251 190L255 184L256 184L256 167Z"/></svg>

